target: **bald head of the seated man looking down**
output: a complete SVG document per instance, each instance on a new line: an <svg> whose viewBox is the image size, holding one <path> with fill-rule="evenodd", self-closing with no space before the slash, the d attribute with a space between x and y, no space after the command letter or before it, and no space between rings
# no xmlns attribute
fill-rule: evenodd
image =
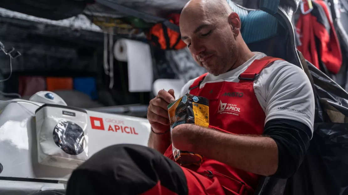
<svg viewBox="0 0 348 195"><path fill-rule="evenodd" d="M239 55L240 18L226 0L191 0L180 15L181 39L209 73L234 68Z"/></svg>

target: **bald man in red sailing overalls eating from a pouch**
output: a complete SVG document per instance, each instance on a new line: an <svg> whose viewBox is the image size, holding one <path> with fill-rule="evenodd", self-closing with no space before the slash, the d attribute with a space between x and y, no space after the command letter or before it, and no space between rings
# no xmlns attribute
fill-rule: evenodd
<svg viewBox="0 0 348 195"><path fill-rule="evenodd" d="M240 18L225 0L191 0L182 40L208 73L181 90L209 99L209 127L169 130L174 91L150 101L149 147L114 145L74 170L67 194L252 195L260 176L290 177L313 134L314 94L304 71L251 52ZM172 145L200 154L200 166L175 162Z"/></svg>

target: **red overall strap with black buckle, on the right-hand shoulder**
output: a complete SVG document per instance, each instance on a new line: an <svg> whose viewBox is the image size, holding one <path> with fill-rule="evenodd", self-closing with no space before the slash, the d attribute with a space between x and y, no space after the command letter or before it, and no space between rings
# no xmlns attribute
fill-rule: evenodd
<svg viewBox="0 0 348 195"><path fill-rule="evenodd" d="M254 81L259 77L261 71L267 65L269 65L269 63L272 63L276 60L283 59L266 56L259 60L254 60L254 62L242 74L238 76L238 79L240 80L239 82Z"/></svg>

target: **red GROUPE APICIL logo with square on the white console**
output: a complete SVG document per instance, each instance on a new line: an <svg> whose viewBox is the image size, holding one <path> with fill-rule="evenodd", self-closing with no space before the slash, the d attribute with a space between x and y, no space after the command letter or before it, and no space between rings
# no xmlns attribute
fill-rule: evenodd
<svg viewBox="0 0 348 195"><path fill-rule="evenodd" d="M98 117L89 117L89 118L90 118L90 124L92 126L92 129L105 130L103 118L98 118ZM106 127L108 127L107 125L109 125L108 127L109 132L138 135L138 133L135 131L135 128L126 126L123 120L107 118L105 119L105 124L106 124Z"/></svg>

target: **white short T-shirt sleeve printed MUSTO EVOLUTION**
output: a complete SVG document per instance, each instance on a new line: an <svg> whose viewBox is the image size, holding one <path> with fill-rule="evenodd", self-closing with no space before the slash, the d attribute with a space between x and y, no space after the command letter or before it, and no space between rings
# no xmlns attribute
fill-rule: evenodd
<svg viewBox="0 0 348 195"><path fill-rule="evenodd" d="M314 93L304 71L289 62L276 61L265 73L267 78L260 81L266 100L265 124L272 119L290 119L306 124L313 132Z"/></svg>

